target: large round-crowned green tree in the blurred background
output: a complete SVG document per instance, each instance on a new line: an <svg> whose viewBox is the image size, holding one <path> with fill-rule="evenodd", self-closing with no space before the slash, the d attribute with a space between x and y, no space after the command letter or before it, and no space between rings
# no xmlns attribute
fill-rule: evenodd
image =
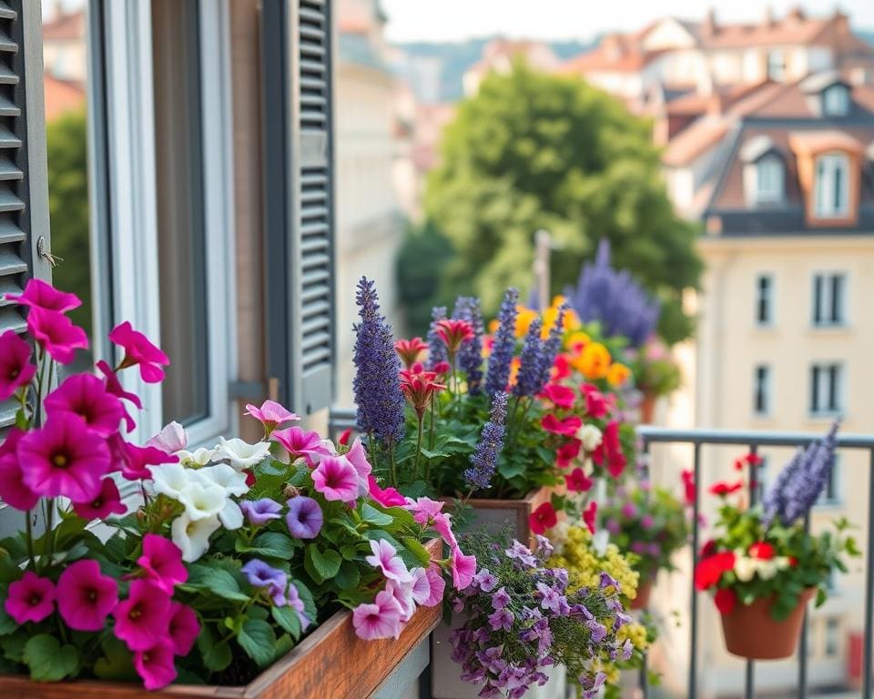
<svg viewBox="0 0 874 699"><path fill-rule="evenodd" d="M662 300L666 340L691 334L681 294L698 283L697 227L674 213L647 122L592 86L521 64L487 77L444 133L425 208L456 253L442 289L488 311L504 287L531 287L534 231L546 228L561 246L555 293L608 238L615 266Z"/></svg>

